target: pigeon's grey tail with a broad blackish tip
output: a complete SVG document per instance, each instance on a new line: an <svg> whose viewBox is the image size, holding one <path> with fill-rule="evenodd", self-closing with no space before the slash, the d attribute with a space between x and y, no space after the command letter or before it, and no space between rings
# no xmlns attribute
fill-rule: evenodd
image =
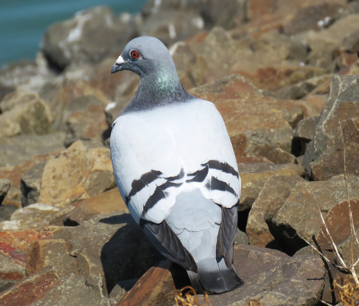
<svg viewBox="0 0 359 306"><path fill-rule="evenodd" d="M192 287L198 292L208 291L222 293L236 289L244 284L234 270L233 265L229 268L224 258L206 258L197 262L198 273L187 271Z"/></svg>

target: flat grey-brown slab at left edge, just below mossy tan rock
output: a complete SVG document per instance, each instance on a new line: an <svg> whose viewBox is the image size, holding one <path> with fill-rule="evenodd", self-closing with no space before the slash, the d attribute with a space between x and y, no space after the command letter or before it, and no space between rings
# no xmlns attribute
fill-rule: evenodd
<svg viewBox="0 0 359 306"><path fill-rule="evenodd" d="M33 156L44 155L64 149L64 140L65 134L63 132L54 132L47 135L18 135L11 138L0 138L0 167L18 165L28 161ZM20 185L20 176L16 185Z"/></svg>

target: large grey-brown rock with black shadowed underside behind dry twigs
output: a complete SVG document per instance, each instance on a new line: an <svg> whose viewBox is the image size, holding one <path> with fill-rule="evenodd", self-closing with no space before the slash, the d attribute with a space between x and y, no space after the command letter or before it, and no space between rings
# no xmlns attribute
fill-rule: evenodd
<svg viewBox="0 0 359 306"><path fill-rule="evenodd" d="M358 197L359 191L354 186L359 177L348 176L348 193L350 198ZM288 194L281 207L267 211L265 216L271 234L278 240L288 254L294 254L311 241L321 226L313 191L323 216L326 212L347 199L344 176L338 175L325 182L298 182Z"/></svg>

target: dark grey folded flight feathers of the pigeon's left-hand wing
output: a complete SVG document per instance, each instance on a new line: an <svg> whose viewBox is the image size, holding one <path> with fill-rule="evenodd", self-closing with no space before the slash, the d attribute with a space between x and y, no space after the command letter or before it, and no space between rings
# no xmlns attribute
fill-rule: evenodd
<svg viewBox="0 0 359 306"><path fill-rule="evenodd" d="M140 220L140 226L154 247L166 258L178 263L188 271L197 272L197 265L191 253L164 220L153 223Z"/></svg>

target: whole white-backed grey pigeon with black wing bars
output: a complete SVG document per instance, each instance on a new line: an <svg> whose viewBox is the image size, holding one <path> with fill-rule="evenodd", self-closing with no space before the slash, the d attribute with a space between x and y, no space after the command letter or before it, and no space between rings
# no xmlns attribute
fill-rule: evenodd
<svg viewBox="0 0 359 306"><path fill-rule="evenodd" d="M197 292L238 288L243 281L233 257L241 179L222 116L183 88L157 38L132 39L111 73L122 70L140 76L110 137L127 208L154 247L187 270Z"/></svg>

